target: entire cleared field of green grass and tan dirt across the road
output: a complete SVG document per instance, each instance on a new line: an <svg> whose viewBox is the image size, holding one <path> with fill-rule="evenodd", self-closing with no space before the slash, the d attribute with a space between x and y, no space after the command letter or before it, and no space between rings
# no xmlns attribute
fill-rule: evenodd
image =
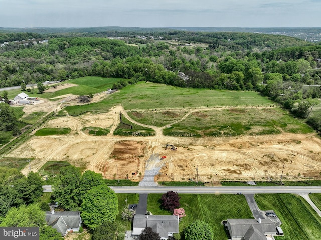
<svg viewBox="0 0 321 240"><path fill-rule="evenodd" d="M116 79L86 77L46 90L23 106L30 123L54 113L2 161L29 172L66 161L107 179L139 181L152 154L156 181L319 179L321 140L305 123L256 92L182 89L149 82L112 94ZM79 95L93 94L90 103ZM20 106L22 107L22 106ZM122 122L120 122L120 116ZM174 145L176 150L166 149ZM7 159L7 160L6 160ZM11 160L8 160L11 159Z"/></svg>

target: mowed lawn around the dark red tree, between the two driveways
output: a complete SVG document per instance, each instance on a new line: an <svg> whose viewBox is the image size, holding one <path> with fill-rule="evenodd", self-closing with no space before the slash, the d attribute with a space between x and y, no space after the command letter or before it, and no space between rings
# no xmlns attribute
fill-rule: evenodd
<svg viewBox="0 0 321 240"><path fill-rule="evenodd" d="M186 217L180 221L181 239L184 229L193 221L200 219L210 224L215 239L227 239L224 226L221 225L227 218L253 218L250 208L243 195L232 194L179 194L181 207ZM148 194L147 210L153 215L172 215L171 212L161 209L162 194Z"/></svg>

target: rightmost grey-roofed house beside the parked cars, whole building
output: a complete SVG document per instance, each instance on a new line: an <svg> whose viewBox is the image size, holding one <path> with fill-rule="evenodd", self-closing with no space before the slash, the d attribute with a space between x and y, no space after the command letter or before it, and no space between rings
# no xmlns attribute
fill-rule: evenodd
<svg viewBox="0 0 321 240"><path fill-rule="evenodd" d="M277 235L271 219L227 219L232 240L267 240Z"/></svg>

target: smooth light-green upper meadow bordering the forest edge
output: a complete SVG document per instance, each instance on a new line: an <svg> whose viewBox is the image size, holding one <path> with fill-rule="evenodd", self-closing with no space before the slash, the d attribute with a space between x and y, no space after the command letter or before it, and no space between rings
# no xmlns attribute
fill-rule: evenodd
<svg viewBox="0 0 321 240"><path fill-rule="evenodd" d="M86 111L106 112L115 105L126 110L184 109L219 106L271 106L274 103L257 92L191 89L139 82L111 94L99 103L71 106L70 115Z"/></svg>

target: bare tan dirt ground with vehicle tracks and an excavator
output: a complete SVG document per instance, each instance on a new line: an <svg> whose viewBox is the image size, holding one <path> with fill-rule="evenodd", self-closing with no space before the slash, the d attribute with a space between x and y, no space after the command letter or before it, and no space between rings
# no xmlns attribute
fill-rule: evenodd
<svg viewBox="0 0 321 240"><path fill-rule="evenodd" d="M103 96L97 95L97 99ZM48 101L48 106L50 103L55 102ZM199 180L204 182L279 179L283 165L285 179L320 177L321 141L314 134L179 138L164 136L161 128L152 126L155 136L114 136L120 111L130 119L121 106L104 114L52 119L45 127L69 127L71 133L32 137L7 156L35 158L31 163L33 171L47 161L69 161L82 169L100 172L105 178L137 181L142 179L151 154L166 156L157 163L162 167L155 177L159 181L195 180L197 169ZM85 133L84 127L109 128L110 133L93 136ZM165 150L167 143L177 150ZM22 170L24 174L28 171L28 167Z"/></svg>

